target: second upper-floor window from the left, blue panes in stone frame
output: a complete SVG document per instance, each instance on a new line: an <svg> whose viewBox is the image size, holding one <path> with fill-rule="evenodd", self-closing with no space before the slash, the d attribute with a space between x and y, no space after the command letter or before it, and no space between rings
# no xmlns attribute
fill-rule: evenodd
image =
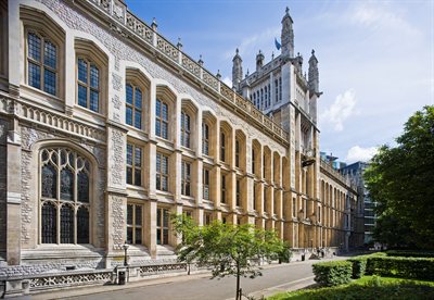
<svg viewBox="0 0 434 300"><path fill-rule="evenodd" d="M100 70L84 58L77 60L78 105L94 112L100 110Z"/></svg>

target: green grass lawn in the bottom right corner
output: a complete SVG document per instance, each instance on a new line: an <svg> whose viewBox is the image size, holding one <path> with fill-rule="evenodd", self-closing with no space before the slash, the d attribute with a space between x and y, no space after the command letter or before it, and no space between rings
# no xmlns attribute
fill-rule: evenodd
<svg viewBox="0 0 434 300"><path fill-rule="evenodd" d="M434 282L363 276L348 285L282 292L267 299L434 299Z"/></svg>

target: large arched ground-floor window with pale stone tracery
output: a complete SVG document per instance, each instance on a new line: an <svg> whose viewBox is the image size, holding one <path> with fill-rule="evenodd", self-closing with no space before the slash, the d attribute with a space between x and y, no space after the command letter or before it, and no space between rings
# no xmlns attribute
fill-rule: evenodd
<svg viewBox="0 0 434 300"><path fill-rule="evenodd" d="M90 163L67 148L40 155L42 243L89 243Z"/></svg>

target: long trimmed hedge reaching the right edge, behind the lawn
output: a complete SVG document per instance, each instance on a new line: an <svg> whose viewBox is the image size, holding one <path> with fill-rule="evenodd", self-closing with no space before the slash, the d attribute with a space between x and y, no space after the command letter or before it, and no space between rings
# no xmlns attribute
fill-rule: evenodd
<svg viewBox="0 0 434 300"><path fill-rule="evenodd" d="M434 259L426 258L368 258L367 274L434 280Z"/></svg>

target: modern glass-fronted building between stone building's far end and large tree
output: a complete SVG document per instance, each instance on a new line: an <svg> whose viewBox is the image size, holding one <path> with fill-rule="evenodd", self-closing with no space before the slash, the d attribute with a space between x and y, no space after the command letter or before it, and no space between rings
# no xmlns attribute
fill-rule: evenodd
<svg viewBox="0 0 434 300"><path fill-rule="evenodd" d="M370 245L374 242L372 234L376 221L376 214L374 211L376 202L370 199L363 180L363 173L368 166L369 163L355 162L341 170L341 173L357 186L357 192L359 197L358 203L360 205L360 211L362 212L362 245Z"/></svg>

